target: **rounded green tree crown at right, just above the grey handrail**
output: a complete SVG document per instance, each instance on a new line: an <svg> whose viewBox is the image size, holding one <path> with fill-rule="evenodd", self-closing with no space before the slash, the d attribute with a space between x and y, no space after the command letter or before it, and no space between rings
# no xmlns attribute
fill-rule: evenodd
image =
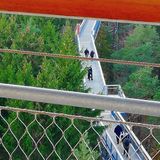
<svg viewBox="0 0 160 160"><path fill-rule="evenodd" d="M142 68L129 76L123 89L129 97L152 99L158 84L158 78L152 77L151 68Z"/></svg>

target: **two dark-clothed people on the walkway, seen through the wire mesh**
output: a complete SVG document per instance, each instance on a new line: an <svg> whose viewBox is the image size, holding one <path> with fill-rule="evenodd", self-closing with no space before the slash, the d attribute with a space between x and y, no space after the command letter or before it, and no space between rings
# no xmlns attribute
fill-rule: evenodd
<svg viewBox="0 0 160 160"><path fill-rule="evenodd" d="M119 144L120 139L123 143L123 147L124 147L124 155L126 155L128 157L128 152L129 152L129 146L131 143L129 134L123 134L123 127L122 125L117 125L114 129L114 133L116 134L116 140L117 140L117 144Z"/></svg>

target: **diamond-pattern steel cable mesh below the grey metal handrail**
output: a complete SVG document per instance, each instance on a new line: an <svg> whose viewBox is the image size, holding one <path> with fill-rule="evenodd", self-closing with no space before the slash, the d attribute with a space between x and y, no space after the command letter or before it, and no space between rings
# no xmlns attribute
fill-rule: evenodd
<svg viewBox="0 0 160 160"><path fill-rule="evenodd" d="M130 159L140 159L142 146L152 159L160 159L159 125L11 107L0 107L0 159L125 159L123 142L117 145L115 135L109 135L120 123L144 132L139 145L131 142Z"/></svg>

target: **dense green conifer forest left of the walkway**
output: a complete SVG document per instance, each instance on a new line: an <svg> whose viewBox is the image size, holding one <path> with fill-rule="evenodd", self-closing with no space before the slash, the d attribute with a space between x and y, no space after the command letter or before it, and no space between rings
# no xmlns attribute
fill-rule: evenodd
<svg viewBox="0 0 160 160"><path fill-rule="evenodd" d="M76 20L1 14L0 48L78 55L74 35L76 23ZM88 89L85 89L83 85L85 74L86 70L82 69L78 60L0 53L0 83L88 92ZM16 108L93 117L100 112L73 106L2 98L0 103L4 106ZM0 137L3 138L5 147L0 145L0 159L9 159L8 153L12 153L13 160L25 159L26 155L31 160L43 159L41 155L48 159L59 159L59 156L65 160L71 153L71 147L66 140L74 147L81 137L75 127L69 127L72 121L67 118L55 117L52 119L51 117L38 115L36 118L39 123L37 123L36 120L34 121L33 115L19 113L18 117L21 121L17 119L16 113L2 111ZM10 130L7 130L8 124L10 124ZM84 133L90 123L75 120L74 125L81 133ZM28 127L27 132L25 126ZM48 126L50 127L47 128ZM68 127L69 129L67 129ZM44 128L47 136L43 135ZM100 130L97 127L97 131ZM91 130L88 133L85 133L85 141L94 148L97 142L91 142L90 139L96 139L97 135ZM65 136L65 138L61 139L62 136ZM33 139L38 143L38 146ZM56 146L53 146L49 139ZM83 141L78 144L74 150L75 155L82 160L81 157L90 157L90 152ZM35 147L37 149L34 149ZM97 157L98 152L93 151L93 155Z"/></svg>

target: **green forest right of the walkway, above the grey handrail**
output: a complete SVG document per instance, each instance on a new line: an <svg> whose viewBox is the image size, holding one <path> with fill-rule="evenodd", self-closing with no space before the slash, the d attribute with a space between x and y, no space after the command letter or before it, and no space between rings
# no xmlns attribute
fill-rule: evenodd
<svg viewBox="0 0 160 160"><path fill-rule="evenodd" d="M118 28L117 28L118 27ZM102 23L96 40L101 57L160 63L159 26ZM115 31L116 30L116 31ZM107 84L121 84L127 97L160 100L160 69L102 63Z"/></svg>

